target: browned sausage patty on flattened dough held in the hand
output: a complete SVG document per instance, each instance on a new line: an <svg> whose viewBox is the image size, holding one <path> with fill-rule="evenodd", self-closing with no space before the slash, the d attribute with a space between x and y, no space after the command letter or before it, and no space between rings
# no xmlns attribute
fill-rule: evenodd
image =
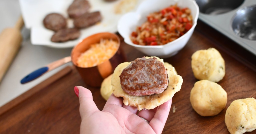
<svg viewBox="0 0 256 134"><path fill-rule="evenodd" d="M119 77L123 91L133 96L159 94L168 87L167 70L155 57L135 59Z"/></svg>

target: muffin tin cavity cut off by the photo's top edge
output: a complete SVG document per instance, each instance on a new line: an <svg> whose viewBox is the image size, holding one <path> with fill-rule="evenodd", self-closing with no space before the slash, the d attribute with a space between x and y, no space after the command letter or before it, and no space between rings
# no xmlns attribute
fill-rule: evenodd
<svg viewBox="0 0 256 134"><path fill-rule="evenodd" d="M200 13L209 14L209 15L218 15L227 13L231 10L238 8L244 0L196 0L196 3L199 6Z"/></svg>

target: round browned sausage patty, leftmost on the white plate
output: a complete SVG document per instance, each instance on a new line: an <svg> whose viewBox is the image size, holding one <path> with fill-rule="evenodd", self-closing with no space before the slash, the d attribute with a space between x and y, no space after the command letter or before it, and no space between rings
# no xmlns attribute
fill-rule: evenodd
<svg viewBox="0 0 256 134"><path fill-rule="evenodd" d="M48 14L44 18L43 23L47 29L54 30L54 31L58 31L60 29L66 28L67 26L66 19L61 14L57 14L57 13Z"/></svg>

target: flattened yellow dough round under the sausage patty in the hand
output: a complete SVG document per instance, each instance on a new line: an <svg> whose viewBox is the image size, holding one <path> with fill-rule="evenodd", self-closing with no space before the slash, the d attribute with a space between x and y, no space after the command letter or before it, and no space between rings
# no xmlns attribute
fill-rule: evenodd
<svg viewBox="0 0 256 134"><path fill-rule="evenodd" d="M151 57L146 57L151 58ZM163 59L156 57L158 61L163 62ZM164 62L163 62L164 63ZM113 73L111 84L113 86L113 94L116 97L122 97L124 105L130 105L137 107L139 111L142 109L153 109L168 100L172 99L173 95L178 92L183 83L181 76L177 75L175 68L171 64L164 63L168 74L168 87L160 94L148 95L148 96L132 96L123 91L120 84L120 74L123 69L130 65L131 62L124 62L119 64Z"/></svg>

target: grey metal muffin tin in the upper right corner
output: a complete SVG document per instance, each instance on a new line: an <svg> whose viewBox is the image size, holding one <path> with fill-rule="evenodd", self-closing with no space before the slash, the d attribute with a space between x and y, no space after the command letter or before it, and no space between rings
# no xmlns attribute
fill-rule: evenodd
<svg viewBox="0 0 256 134"><path fill-rule="evenodd" d="M199 19L256 55L256 0L195 0Z"/></svg>

